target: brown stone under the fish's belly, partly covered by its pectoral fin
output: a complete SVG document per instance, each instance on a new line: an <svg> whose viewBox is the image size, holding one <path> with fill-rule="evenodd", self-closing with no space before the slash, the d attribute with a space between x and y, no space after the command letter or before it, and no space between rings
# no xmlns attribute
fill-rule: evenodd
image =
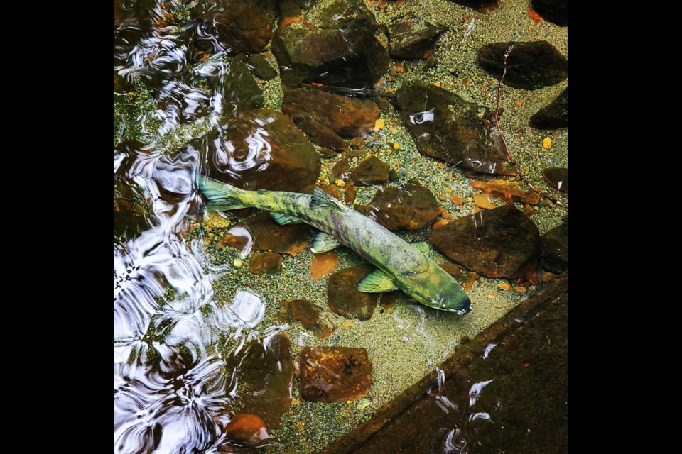
<svg viewBox="0 0 682 454"><path fill-rule="evenodd" d="M329 310L346 319L369 320L379 294L359 292L355 286L372 271L374 267L360 265L332 274L327 286Z"/></svg>

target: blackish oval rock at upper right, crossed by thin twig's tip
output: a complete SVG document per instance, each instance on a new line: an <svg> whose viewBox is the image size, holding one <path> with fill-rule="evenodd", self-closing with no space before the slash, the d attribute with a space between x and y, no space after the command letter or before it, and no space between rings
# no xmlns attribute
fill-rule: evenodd
<svg viewBox="0 0 682 454"><path fill-rule="evenodd" d="M497 79L502 77L504 52L510 44L514 44L514 49L507 58L505 85L535 90L558 84L568 77L568 60L547 41L484 45L478 50L479 65Z"/></svg>

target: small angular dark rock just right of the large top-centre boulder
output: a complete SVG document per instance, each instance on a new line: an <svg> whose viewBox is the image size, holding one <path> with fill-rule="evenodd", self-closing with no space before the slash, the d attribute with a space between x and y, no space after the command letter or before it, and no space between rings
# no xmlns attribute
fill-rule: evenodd
<svg viewBox="0 0 682 454"><path fill-rule="evenodd" d="M386 24L389 55L394 58L424 58L445 30L445 27L428 23L412 13L394 18Z"/></svg>

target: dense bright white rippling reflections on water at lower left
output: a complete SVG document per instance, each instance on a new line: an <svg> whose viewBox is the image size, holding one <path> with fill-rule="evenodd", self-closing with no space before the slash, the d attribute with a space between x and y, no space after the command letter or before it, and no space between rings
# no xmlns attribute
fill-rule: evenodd
<svg viewBox="0 0 682 454"><path fill-rule="evenodd" d="M225 338L237 352L256 338L262 299L245 290L227 304L213 300L210 267L199 240L185 243L186 216L199 201L200 158L139 144L114 150L114 177L150 206L149 228L114 236L114 452L201 453L225 440L225 405L237 374L212 353Z"/></svg>

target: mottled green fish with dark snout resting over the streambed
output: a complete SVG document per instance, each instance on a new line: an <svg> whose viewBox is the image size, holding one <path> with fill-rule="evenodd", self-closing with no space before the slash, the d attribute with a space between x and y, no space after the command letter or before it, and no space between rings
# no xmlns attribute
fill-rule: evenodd
<svg viewBox="0 0 682 454"><path fill-rule="evenodd" d="M401 289L434 309L460 315L471 310L462 286L419 248L320 189L313 194L245 191L207 177L199 177L199 187L210 211L247 206L271 211L280 223L300 221L325 233L315 239L313 252L341 244L362 255L379 268L359 282L362 292Z"/></svg>

